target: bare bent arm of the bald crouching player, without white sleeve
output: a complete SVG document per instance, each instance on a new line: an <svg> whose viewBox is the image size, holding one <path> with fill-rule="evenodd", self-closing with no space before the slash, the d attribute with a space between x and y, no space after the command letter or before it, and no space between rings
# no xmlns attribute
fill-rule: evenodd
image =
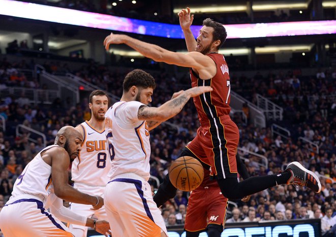
<svg viewBox="0 0 336 237"><path fill-rule="evenodd" d="M48 153L51 157L51 178L55 194L63 200L76 202L78 204L92 205L97 210L104 205L104 199L100 196L91 196L79 192L68 184L68 167L70 164L69 154L63 148L50 149ZM44 156L43 155L43 156Z"/></svg>

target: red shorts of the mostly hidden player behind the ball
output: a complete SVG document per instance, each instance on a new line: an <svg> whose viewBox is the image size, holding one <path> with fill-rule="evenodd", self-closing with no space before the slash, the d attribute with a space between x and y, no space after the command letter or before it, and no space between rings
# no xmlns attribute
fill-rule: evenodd
<svg viewBox="0 0 336 237"><path fill-rule="evenodd" d="M223 225L228 207L228 198L224 197L218 186L195 189L188 200L184 228L195 232L203 230L208 224Z"/></svg>

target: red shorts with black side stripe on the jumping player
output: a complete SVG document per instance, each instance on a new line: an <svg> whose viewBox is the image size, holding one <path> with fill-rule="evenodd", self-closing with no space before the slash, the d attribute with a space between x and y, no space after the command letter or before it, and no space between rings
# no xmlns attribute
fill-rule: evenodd
<svg viewBox="0 0 336 237"><path fill-rule="evenodd" d="M217 179L237 177L236 153L239 130L229 115L216 117L201 124L197 136L187 148L202 162L211 166Z"/></svg>

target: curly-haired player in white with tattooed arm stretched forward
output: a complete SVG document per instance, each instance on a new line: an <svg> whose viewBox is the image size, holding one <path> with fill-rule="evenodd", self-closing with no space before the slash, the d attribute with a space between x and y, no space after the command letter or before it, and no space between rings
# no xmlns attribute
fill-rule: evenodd
<svg viewBox="0 0 336 237"><path fill-rule="evenodd" d="M212 90L194 87L179 91L158 108L148 107L154 78L133 70L123 82L121 101L105 114L105 133L112 160L104 200L113 236L167 236L161 212L153 201L149 131L178 114L190 97Z"/></svg>

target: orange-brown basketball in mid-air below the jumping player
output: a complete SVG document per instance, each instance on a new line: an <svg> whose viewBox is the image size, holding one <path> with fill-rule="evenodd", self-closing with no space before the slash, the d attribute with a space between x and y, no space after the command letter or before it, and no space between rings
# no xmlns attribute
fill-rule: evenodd
<svg viewBox="0 0 336 237"><path fill-rule="evenodd" d="M182 191L198 188L203 177L204 171L201 162L191 156L177 158L169 168L169 179L174 187Z"/></svg>

